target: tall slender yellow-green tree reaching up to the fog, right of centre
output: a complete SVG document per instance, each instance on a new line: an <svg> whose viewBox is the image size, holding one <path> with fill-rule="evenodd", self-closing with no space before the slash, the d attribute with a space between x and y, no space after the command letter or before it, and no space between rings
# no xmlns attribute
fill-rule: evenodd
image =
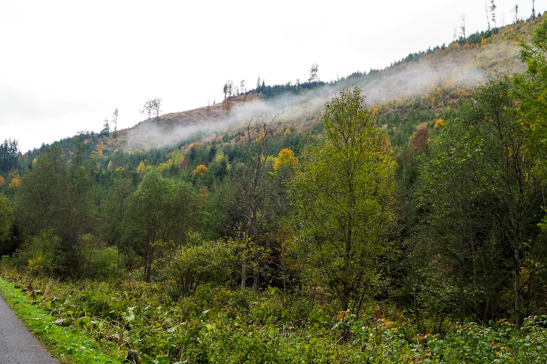
<svg viewBox="0 0 547 364"><path fill-rule="evenodd" d="M394 162L356 87L325 104L324 139L294 180L299 238L342 310L359 309L374 256L389 226Z"/></svg>

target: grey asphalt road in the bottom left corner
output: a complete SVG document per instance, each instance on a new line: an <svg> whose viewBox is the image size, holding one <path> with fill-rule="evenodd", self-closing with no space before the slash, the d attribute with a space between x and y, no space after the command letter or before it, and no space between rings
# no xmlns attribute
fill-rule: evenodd
<svg viewBox="0 0 547 364"><path fill-rule="evenodd" d="M59 364L0 296L0 364Z"/></svg>

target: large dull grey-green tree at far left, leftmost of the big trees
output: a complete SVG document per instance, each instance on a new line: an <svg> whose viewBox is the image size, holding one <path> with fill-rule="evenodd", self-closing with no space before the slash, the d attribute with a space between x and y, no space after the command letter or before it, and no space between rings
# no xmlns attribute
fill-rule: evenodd
<svg viewBox="0 0 547 364"><path fill-rule="evenodd" d="M71 149L46 148L21 181L15 208L27 236L59 237L52 270L57 275L80 275L86 256L82 236L94 230L90 143L79 134Z"/></svg>

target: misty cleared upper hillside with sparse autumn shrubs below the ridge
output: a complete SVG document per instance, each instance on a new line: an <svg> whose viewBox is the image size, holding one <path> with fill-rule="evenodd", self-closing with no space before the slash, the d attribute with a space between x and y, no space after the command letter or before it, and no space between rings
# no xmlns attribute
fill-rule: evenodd
<svg viewBox="0 0 547 364"><path fill-rule="evenodd" d="M261 93L260 89L254 89L245 97L231 97L216 105L164 114L157 120L120 130L118 140L110 138L105 144L111 150L123 148L129 152L151 146L182 146L189 141L209 140L207 137L212 135L230 133L232 129L232 132L236 130L232 134L237 134L251 119L264 122L274 117L279 126L296 123L297 129L307 130L318 120L327 100L340 89L354 85L363 90L371 110L378 107L380 125L400 127L401 121L408 120L407 112L416 109L416 103L420 109L430 112L414 122L434 123L447 107L456 108L458 102L469 97L489 75L522 71L519 43L529 41L536 23L537 20L522 21L496 31L473 34L446 47L409 55L386 69L358 72L330 83L300 88L278 85L286 90L270 96L267 90Z"/></svg>

